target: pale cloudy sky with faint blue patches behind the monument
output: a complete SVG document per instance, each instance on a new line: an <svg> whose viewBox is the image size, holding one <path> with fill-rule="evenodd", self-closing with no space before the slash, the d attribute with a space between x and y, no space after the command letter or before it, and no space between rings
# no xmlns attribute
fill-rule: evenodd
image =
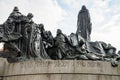
<svg viewBox="0 0 120 80"><path fill-rule="evenodd" d="M0 0L0 24L5 22L14 6L27 15L34 14L35 23L43 23L56 35L62 29L69 35L77 29L77 15L82 5L89 9L92 41L111 43L120 49L120 0Z"/></svg>

